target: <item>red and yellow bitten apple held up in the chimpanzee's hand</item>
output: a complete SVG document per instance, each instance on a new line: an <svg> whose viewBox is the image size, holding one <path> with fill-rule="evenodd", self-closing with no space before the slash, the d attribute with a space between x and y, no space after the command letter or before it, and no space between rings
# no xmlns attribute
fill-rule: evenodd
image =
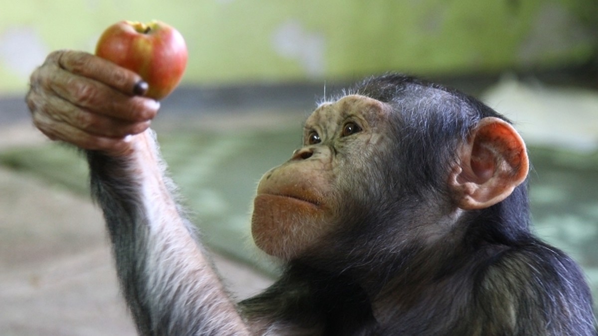
<svg viewBox="0 0 598 336"><path fill-rule="evenodd" d="M166 23L121 21L100 36L96 55L135 71L149 85L145 96L160 100L181 81L187 66L187 45Z"/></svg>

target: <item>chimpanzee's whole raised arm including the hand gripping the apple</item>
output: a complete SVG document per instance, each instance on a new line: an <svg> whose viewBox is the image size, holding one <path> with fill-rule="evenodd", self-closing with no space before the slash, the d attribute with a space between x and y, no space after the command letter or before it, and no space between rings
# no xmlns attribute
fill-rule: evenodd
<svg viewBox="0 0 598 336"><path fill-rule="evenodd" d="M91 190L138 331L248 334L176 204L147 129L159 104L135 96L140 81L90 54L58 51L33 73L27 101L49 138L87 150Z"/></svg>

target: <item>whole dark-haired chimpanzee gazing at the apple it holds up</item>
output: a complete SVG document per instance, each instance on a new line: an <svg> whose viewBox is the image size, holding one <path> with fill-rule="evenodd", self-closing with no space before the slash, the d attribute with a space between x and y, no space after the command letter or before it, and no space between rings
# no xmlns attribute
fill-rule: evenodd
<svg viewBox="0 0 598 336"><path fill-rule="evenodd" d="M86 153L139 334L596 335L581 270L530 232L523 140L478 100L386 74L322 102L254 200L252 236L282 276L234 303L176 203L140 83L57 51L27 97L41 132Z"/></svg>

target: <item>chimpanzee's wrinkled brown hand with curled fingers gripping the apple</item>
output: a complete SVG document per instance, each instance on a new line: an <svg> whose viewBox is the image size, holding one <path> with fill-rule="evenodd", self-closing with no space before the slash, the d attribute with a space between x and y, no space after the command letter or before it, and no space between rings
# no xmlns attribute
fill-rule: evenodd
<svg viewBox="0 0 598 336"><path fill-rule="evenodd" d="M54 51L30 78L33 123L53 140L109 155L130 152L160 104L139 75L92 54Z"/></svg>

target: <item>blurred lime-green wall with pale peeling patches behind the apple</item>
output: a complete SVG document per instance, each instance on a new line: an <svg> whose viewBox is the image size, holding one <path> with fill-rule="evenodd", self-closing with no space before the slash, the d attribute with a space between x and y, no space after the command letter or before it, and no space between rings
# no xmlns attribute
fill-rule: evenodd
<svg viewBox="0 0 598 336"><path fill-rule="evenodd" d="M495 72L587 62L595 0L19 0L0 11L0 94L25 91L51 50L93 51L118 20L187 40L186 84L323 81L397 70Z"/></svg>

